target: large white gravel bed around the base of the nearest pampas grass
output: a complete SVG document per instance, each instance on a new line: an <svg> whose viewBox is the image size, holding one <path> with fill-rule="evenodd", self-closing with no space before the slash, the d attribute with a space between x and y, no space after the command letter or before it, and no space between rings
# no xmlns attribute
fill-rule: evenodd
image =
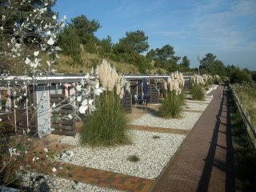
<svg viewBox="0 0 256 192"><path fill-rule="evenodd" d="M155 179L186 138L186 135L181 134L160 134L139 130L131 130L130 134L134 140L132 145L113 148L76 146L56 160L78 166ZM159 138L153 138L155 135ZM61 142L77 143L78 136L62 138ZM136 155L139 161L128 161L127 158L130 155Z"/></svg>

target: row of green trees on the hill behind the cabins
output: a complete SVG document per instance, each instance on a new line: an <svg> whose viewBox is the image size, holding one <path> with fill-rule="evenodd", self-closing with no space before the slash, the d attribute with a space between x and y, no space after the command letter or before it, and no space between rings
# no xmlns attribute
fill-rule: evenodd
<svg viewBox="0 0 256 192"><path fill-rule="evenodd" d="M1 9L4 9L7 0L0 0ZM32 0L30 5L18 10L12 18L8 20L10 26L14 22L21 24L26 19L26 15L30 14L35 8L42 7L41 0ZM44 14L43 23L34 23L30 26L29 39L37 38L37 25L44 25L49 22L54 23L53 15L58 15L52 10L56 0L47 6L46 14ZM1 21L0 21L1 26ZM5 23L6 26L6 23ZM190 68L190 59L187 56L182 58L177 56L174 47L166 44L160 48L150 49L148 36L143 30L127 31L123 38L117 43L113 43L110 35L106 38L99 39L95 33L101 28L100 22L95 19L88 19L86 15L79 15L72 18L66 23L65 28L59 31L58 45L62 48L62 54L69 55L78 65L84 65L82 62L82 50L87 53L97 54L99 58L109 58L115 62L126 62L138 67L140 73L145 74L149 71L156 71L158 74L171 73L179 70L186 74L197 73L198 69ZM5 33L8 33L6 30ZM10 30L11 31L11 30ZM32 43L29 39L24 42L28 46ZM2 42L4 39L2 39ZM33 47L31 47L33 49ZM3 62L3 61L2 61ZM6 61L4 62L6 63ZM202 58L199 66L201 74L218 74L230 78L233 82L251 82L255 81L256 72L247 69L241 70L238 66L225 66L224 63L217 59L216 55L207 53Z"/></svg>

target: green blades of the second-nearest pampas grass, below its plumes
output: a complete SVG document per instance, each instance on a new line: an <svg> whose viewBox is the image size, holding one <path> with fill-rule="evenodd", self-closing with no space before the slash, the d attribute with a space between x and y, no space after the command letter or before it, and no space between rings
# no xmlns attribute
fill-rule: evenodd
<svg viewBox="0 0 256 192"><path fill-rule="evenodd" d="M185 97L183 93L176 95L174 90L168 90L166 98L159 108L158 115L162 118L179 118L184 104Z"/></svg>

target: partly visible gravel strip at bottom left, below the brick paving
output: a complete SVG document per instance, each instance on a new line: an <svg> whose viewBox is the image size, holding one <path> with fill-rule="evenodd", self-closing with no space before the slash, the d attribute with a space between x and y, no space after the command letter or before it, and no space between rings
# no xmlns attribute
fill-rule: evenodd
<svg viewBox="0 0 256 192"><path fill-rule="evenodd" d="M54 175L46 175L46 174L38 174L38 173L31 173L32 178L38 177L38 176L42 176L39 180L39 182L35 182L35 186L33 191L41 191L41 192L69 192L69 191L95 191L95 192L99 192L99 191L111 191L111 192L115 192L115 191L119 191L119 190L113 190L110 188L102 188L99 186L93 186L90 184L86 184L83 182L74 182L70 179L66 179L66 178L58 178ZM28 187L29 185L31 185L30 183L30 174L25 174L22 175L22 178L24 179L23 185ZM32 191L32 190L30 190Z"/></svg>

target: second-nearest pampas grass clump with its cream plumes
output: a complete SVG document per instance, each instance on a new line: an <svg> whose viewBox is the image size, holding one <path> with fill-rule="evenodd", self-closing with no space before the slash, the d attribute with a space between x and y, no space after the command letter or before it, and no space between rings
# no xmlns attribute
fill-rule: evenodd
<svg viewBox="0 0 256 192"><path fill-rule="evenodd" d="M162 118L179 118L182 106L185 104L185 98L182 93L184 86L184 78L181 73L175 72L170 75L167 82L164 82L165 90L167 90L166 98L160 106L158 115Z"/></svg>

